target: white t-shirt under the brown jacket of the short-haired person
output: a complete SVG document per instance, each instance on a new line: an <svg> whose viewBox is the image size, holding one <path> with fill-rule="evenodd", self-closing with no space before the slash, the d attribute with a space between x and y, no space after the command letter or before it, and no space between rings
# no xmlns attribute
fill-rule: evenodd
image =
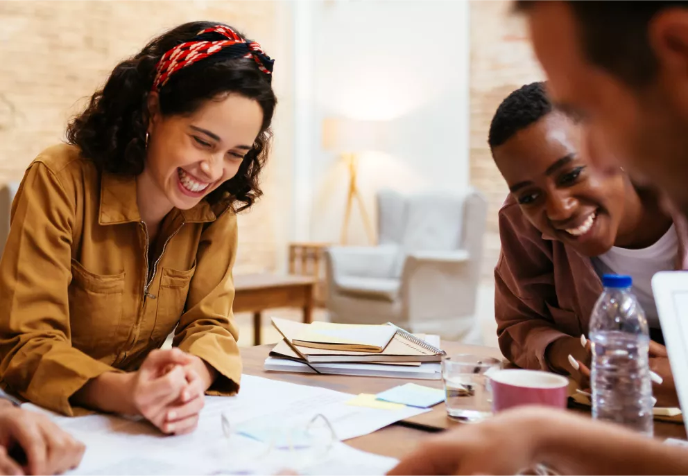
<svg viewBox="0 0 688 476"><path fill-rule="evenodd" d="M660 328L657 306L652 295L652 276L660 271L676 269L678 236L671 225L669 231L654 245L644 249L612 247L608 252L592 258L597 274L626 274L633 278L633 294L637 297L652 328Z"/></svg>

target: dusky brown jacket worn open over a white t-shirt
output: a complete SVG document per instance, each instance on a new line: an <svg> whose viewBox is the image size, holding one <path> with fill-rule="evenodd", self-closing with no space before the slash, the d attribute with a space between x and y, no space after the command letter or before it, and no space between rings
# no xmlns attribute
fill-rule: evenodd
<svg viewBox="0 0 688 476"><path fill-rule="evenodd" d="M674 220L679 238L677 269L688 269L688 232ZM567 335L587 335L590 314L602 293L592 261L544 236L513 197L499 211L501 254L494 269L494 314L499 348L524 369L553 370L547 346Z"/></svg>

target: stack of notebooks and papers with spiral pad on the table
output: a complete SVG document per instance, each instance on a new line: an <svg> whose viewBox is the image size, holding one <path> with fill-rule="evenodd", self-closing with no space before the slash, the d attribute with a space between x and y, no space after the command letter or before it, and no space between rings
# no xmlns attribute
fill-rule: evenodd
<svg viewBox="0 0 688 476"><path fill-rule="evenodd" d="M273 318L284 339L265 361L268 371L440 379L437 335L411 335L386 324L364 326Z"/></svg>

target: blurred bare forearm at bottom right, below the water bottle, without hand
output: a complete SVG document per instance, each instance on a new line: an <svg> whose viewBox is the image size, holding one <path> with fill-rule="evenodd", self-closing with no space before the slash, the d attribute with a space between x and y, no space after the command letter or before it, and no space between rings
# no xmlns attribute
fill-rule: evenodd
<svg viewBox="0 0 688 476"><path fill-rule="evenodd" d="M534 422L535 423L535 422ZM573 425L539 422L537 462L565 475L688 474L688 450L643 437L611 423L581 418Z"/></svg>

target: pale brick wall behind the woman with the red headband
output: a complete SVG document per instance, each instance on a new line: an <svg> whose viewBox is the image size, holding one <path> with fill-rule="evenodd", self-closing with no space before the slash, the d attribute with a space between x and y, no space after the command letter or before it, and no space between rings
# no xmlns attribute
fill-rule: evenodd
<svg viewBox="0 0 688 476"><path fill-rule="evenodd" d="M196 19L223 21L277 56L273 51L284 48L275 28L279 1L0 0L0 182L21 179L37 152L62 140L69 116L114 64L166 28ZM277 68L276 89L283 73ZM282 152L289 155L287 150ZM280 153L275 150L271 160ZM268 169L266 191L274 177ZM273 196L266 193L240 217L237 272L276 265L279 201Z"/></svg>

